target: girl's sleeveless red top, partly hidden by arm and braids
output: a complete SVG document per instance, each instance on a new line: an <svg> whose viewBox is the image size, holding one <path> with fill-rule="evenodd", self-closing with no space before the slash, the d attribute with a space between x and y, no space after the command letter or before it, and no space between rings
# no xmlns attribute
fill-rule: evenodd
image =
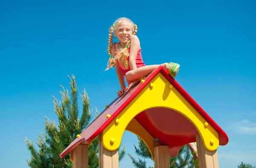
<svg viewBox="0 0 256 168"><path fill-rule="evenodd" d="M116 52L116 43L114 43L114 48L115 48L115 52ZM129 53L130 52L130 48L128 47L127 50L128 50L128 53ZM128 71L131 70L130 66L129 66L129 56L126 59L126 61L127 62L125 62L125 64L122 64L121 62L117 61L118 64L119 64L120 70L121 70L123 75L125 75L125 73L127 73ZM137 68L145 66L145 64L144 64L144 62L142 60L142 56L141 56L141 48L138 51L137 56L136 56L136 66L137 66ZM127 83L131 84L131 82L128 82L128 81L127 81Z"/></svg>

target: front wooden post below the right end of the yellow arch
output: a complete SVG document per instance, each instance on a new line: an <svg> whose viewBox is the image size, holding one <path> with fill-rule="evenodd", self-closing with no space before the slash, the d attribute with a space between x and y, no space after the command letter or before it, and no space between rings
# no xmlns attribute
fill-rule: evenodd
<svg viewBox="0 0 256 168"><path fill-rule="evenodd" d="M218 168L217 150L208 151L203 144L199 134L196 134L196 143L198 148L199 168Z"/></svg>

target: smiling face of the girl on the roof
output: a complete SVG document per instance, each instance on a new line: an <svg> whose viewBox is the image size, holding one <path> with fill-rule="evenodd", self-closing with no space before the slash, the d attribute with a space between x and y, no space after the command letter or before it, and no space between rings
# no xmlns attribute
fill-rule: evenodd
<svg viewBox="0 0 256 168"><path fill-rule="evenodd" d="M132 28L131 23L129 22L122 22L114 31L114 35L117 37L119 42L124 44L131 38L131 34Z"/></svg>

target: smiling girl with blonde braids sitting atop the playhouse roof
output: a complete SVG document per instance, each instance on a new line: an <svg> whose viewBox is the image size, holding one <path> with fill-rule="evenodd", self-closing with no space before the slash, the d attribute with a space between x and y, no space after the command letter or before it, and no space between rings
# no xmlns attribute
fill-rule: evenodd
<svg viewBox="0 0 256 168"><path fill-rule="evenodd" d="M113 34L119 40L113 44ZM137 25L130 19L121 17L110 27L108 38L108 68L116 66L116 74L119 80L121 90L117 92L118 96L127 92L140 78L148 76L152 71L162 65L170 75L175 78L180 65L176 63L163 63L156 65L145 65L141 56L140 40L136 36ZM111 57L113 55L113 58ZM128 87L125 87L125 79ZM197 152L195 143L187 144L191 151L195 151L195 165L198 167Z"/></svg>

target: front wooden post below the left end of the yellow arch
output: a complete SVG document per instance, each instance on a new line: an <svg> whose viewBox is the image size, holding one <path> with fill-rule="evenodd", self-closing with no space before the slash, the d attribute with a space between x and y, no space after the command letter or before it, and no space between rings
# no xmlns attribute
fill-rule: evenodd
<svg viewBox="0 0 256 168"><path fill-rule="evenodd" d="M108 151L102 145L102 133L99 134L99 168L119 168L118 149Z"/></svg>

